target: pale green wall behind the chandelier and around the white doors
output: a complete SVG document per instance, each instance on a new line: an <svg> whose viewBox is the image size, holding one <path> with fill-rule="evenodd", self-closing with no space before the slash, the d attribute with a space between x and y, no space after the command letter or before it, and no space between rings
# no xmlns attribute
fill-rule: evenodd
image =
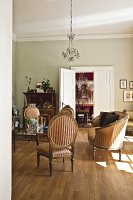
<svg viewBox="0 0 133 200"><path fill-rule="evenodd" d="M32 77L32 88L43 77L50 79L58 93L59 68L71 66L113 65L115 69L115 109L133 109L132 103L123 102L119 80L133 81L133 39L104 39L74 41L80 59L68 63L62 58L67 41L17 42L16 43L16 105L22 111L25 74ZM69 77L68 77L69 79Z"/></svg>

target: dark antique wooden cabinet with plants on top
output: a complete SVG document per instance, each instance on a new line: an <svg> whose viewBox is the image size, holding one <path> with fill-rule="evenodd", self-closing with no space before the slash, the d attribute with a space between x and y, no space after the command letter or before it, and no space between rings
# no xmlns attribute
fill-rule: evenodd
<svg viewBox="0 0 133 200"><path fill-rule="evenodd" d="M56 113L56 93L55 92L24 92L24 108L28 105L35 105L39 108L40 114L47 117L47 124ZM24 117L23 117L24 125Z"/></svg>

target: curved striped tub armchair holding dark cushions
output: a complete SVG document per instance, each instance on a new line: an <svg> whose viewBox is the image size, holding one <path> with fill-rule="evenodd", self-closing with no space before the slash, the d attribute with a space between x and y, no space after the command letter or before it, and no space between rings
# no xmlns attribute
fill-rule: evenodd
<svg viewBox="0 0 133 200"><path fill-rule="evenodd" d="M119 119L116 122L104 127L98 127L98 116L93 121L93 127L89 128L88 140L93 146L93 158L95 158L96 149L118 150L119 160L121 161L121 151L128 122L128 114L118 111L116 113L119 114Z"/></svg>

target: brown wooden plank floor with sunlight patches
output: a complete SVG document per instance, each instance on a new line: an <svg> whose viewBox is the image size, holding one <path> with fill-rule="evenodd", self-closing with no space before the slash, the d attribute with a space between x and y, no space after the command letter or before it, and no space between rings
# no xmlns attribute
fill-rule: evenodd
<svg viewBox="0 0 133 200"><path fill-rule="evenodd" d="M132 200L133 137L126 136L122 162L118 154L98 150L92 160L87 131L75 143L74 172L70 162L55 160L49 176L48 160L36 167L36 143L16 141L13 153L12 200Z"/></svg>

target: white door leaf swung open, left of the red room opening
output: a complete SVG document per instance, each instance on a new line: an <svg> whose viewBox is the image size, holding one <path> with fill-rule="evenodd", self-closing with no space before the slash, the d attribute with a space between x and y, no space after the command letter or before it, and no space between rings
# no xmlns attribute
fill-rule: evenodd
<svg viewBox="0 0 133 200"><path fill-rule="evenodd" d="M61 68L59 87L59 110L65 105L70 105L75 112L75 72Z"/></svg>

